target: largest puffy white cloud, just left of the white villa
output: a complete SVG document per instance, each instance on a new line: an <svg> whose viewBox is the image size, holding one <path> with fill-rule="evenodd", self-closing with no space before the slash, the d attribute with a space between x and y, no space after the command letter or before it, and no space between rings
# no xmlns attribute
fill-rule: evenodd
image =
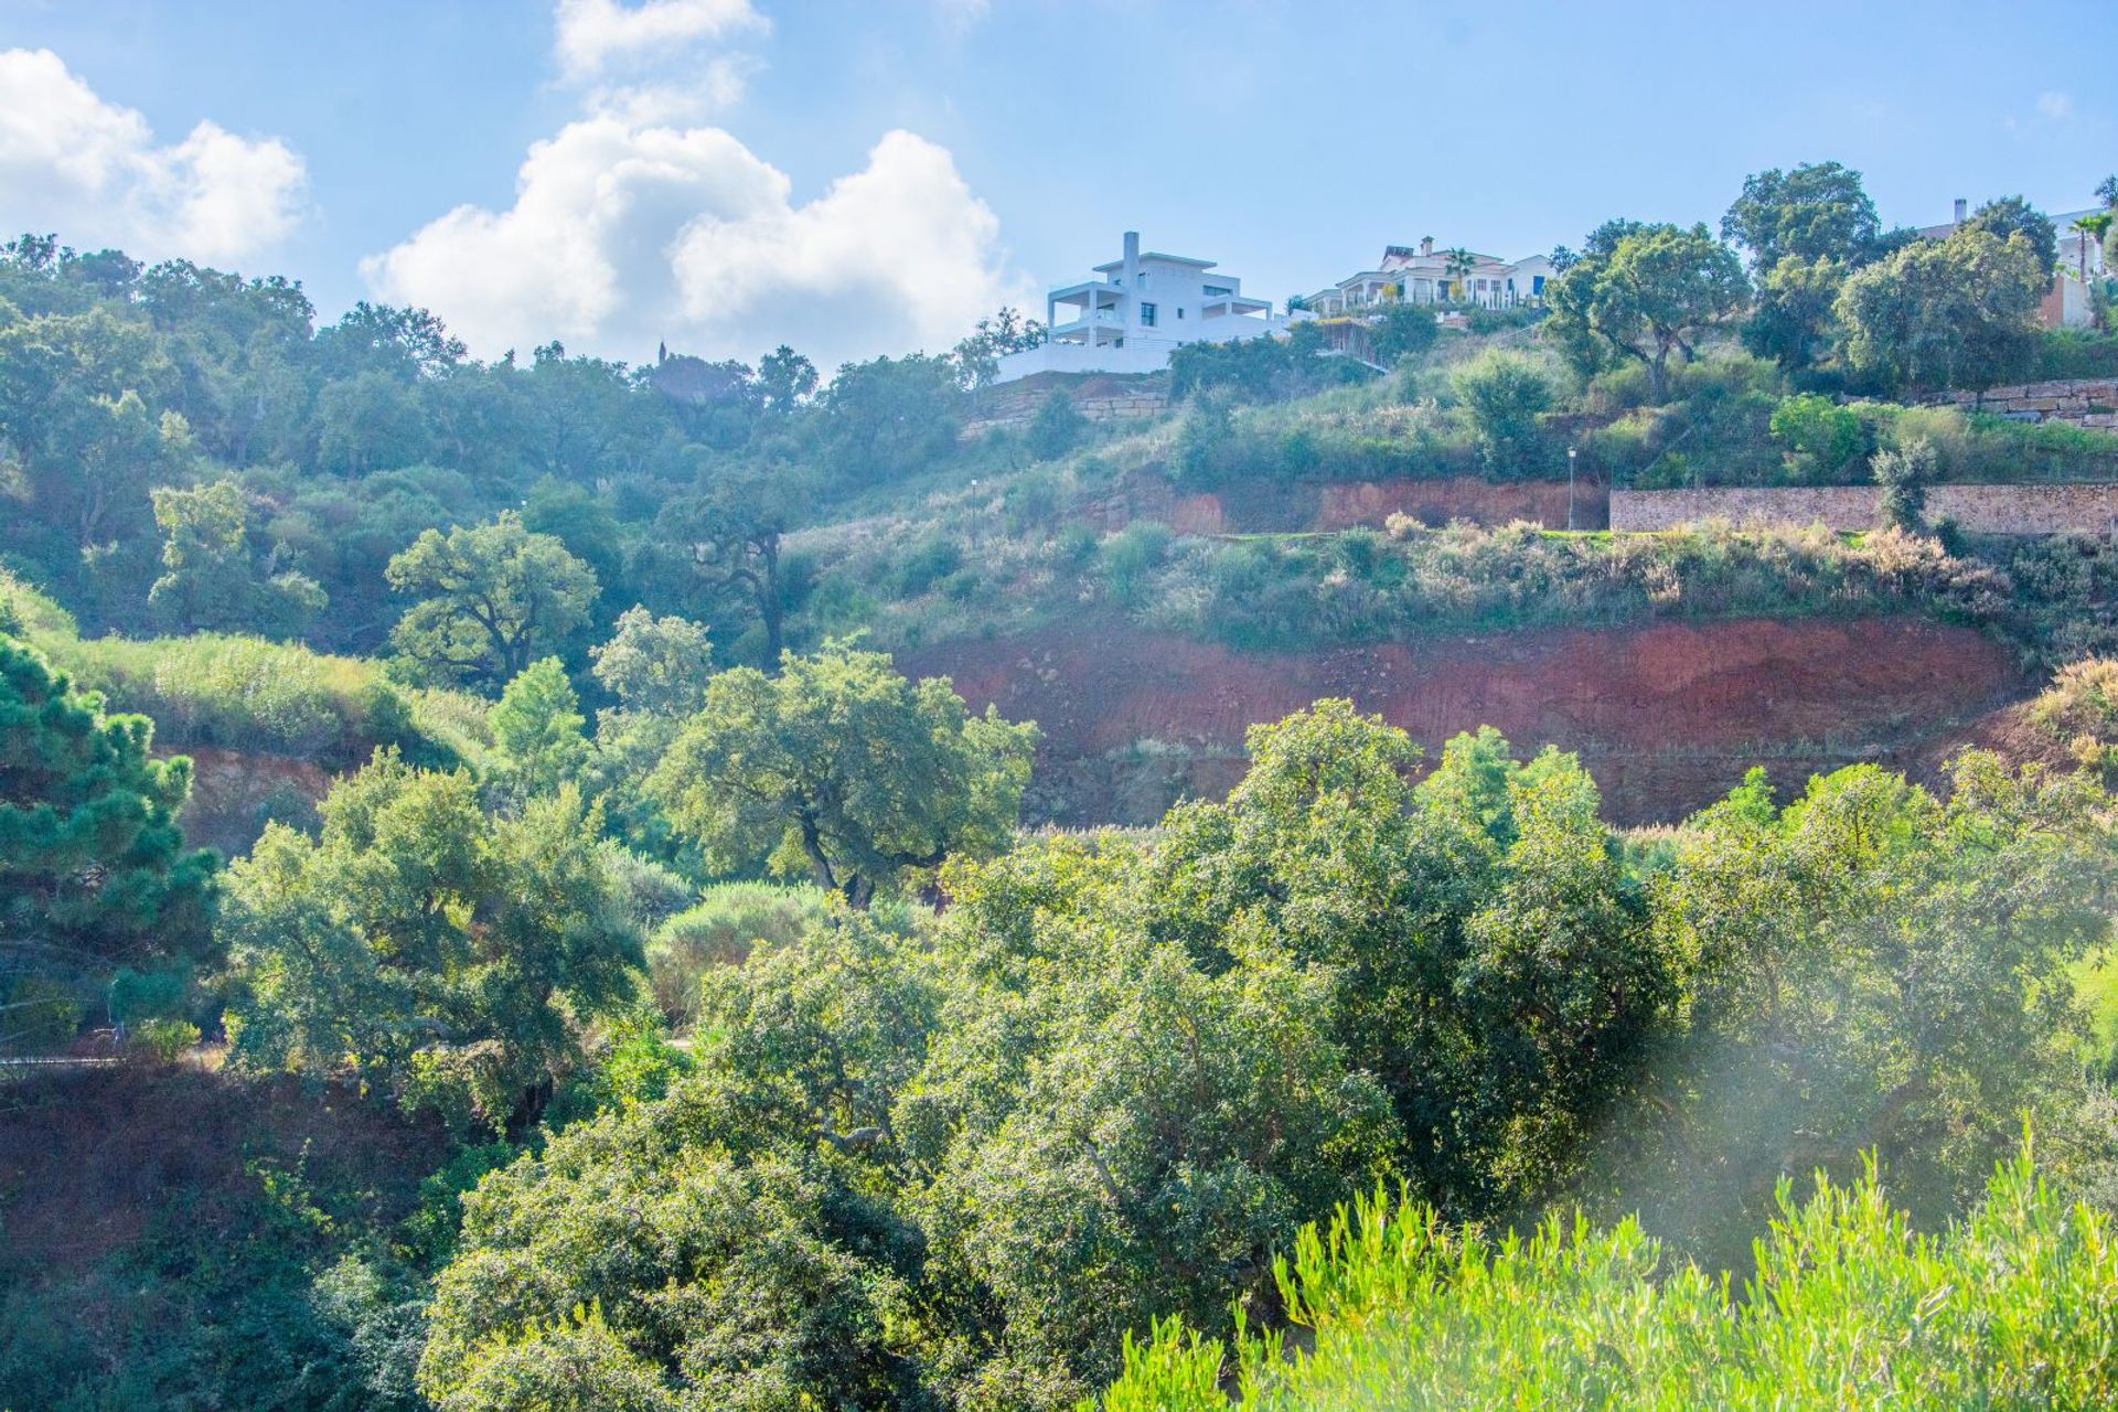
<svg viewBox="0 0 2118 1412"><path fill-rule="evenodd" d="M483 356L561 339L640 360L657 341L754 360L792 343L820 366L943 349L1025 290L1000 222L932 142L892 131L818 199L716 127L589 116L538 142L504 212L462 205L362 260Z"/></svg>

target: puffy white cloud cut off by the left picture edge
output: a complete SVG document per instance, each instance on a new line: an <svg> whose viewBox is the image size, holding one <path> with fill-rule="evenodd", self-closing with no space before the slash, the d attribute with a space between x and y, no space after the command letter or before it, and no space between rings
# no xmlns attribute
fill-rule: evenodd
<svg viewBox="0 0 2118 1412"><path fill-rule="evenodd" d="M305 180L277 138L201 121L155 146L140 112L106 104L59 55L0 51L0 231L231 263L294 229Z"/></svg>

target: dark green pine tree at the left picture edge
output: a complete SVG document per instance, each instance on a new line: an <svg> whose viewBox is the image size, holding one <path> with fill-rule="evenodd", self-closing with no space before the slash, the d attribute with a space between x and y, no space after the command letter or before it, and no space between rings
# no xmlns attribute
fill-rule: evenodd
<svg viewBox="0 0 2118 1412"><path fill-rule="evenodd" d="M104 716L44 658L0 635L0 976L64 986L205 953L212 853L176 811L191 762L152 760L152 724ZM49 997L47 997L49 999ZM4 1027L0 1027L4 1033Z"/></svg>

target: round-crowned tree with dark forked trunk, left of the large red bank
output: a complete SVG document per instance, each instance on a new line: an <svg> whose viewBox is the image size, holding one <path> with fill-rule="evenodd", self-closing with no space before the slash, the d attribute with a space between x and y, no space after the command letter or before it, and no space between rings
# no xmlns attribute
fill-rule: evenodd
<svg viewBox="0 0 2118 1412"><path fill-rule="evenodd" d="M1034 741L947 680L832 644L777 677L714 677L650 788L720 868L807 872L866 906L904 872L1004 847Z"/></svg>

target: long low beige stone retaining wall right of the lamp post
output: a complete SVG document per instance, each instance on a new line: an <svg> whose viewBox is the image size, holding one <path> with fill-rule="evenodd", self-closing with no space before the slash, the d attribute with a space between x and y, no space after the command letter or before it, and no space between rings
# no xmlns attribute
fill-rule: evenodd
<svg viewBox="0 0 2118 1412"><path fill-rule="evenodd" d="M1612 491L1612 529L1671 529L1705 519L1737 525L1826 525L1874 529L1877 487L1788 485L1703 491ZM1927 519L1951 519L1963 533L2118 531L2118 483L2080 485L1934 485Z"/></svg>

